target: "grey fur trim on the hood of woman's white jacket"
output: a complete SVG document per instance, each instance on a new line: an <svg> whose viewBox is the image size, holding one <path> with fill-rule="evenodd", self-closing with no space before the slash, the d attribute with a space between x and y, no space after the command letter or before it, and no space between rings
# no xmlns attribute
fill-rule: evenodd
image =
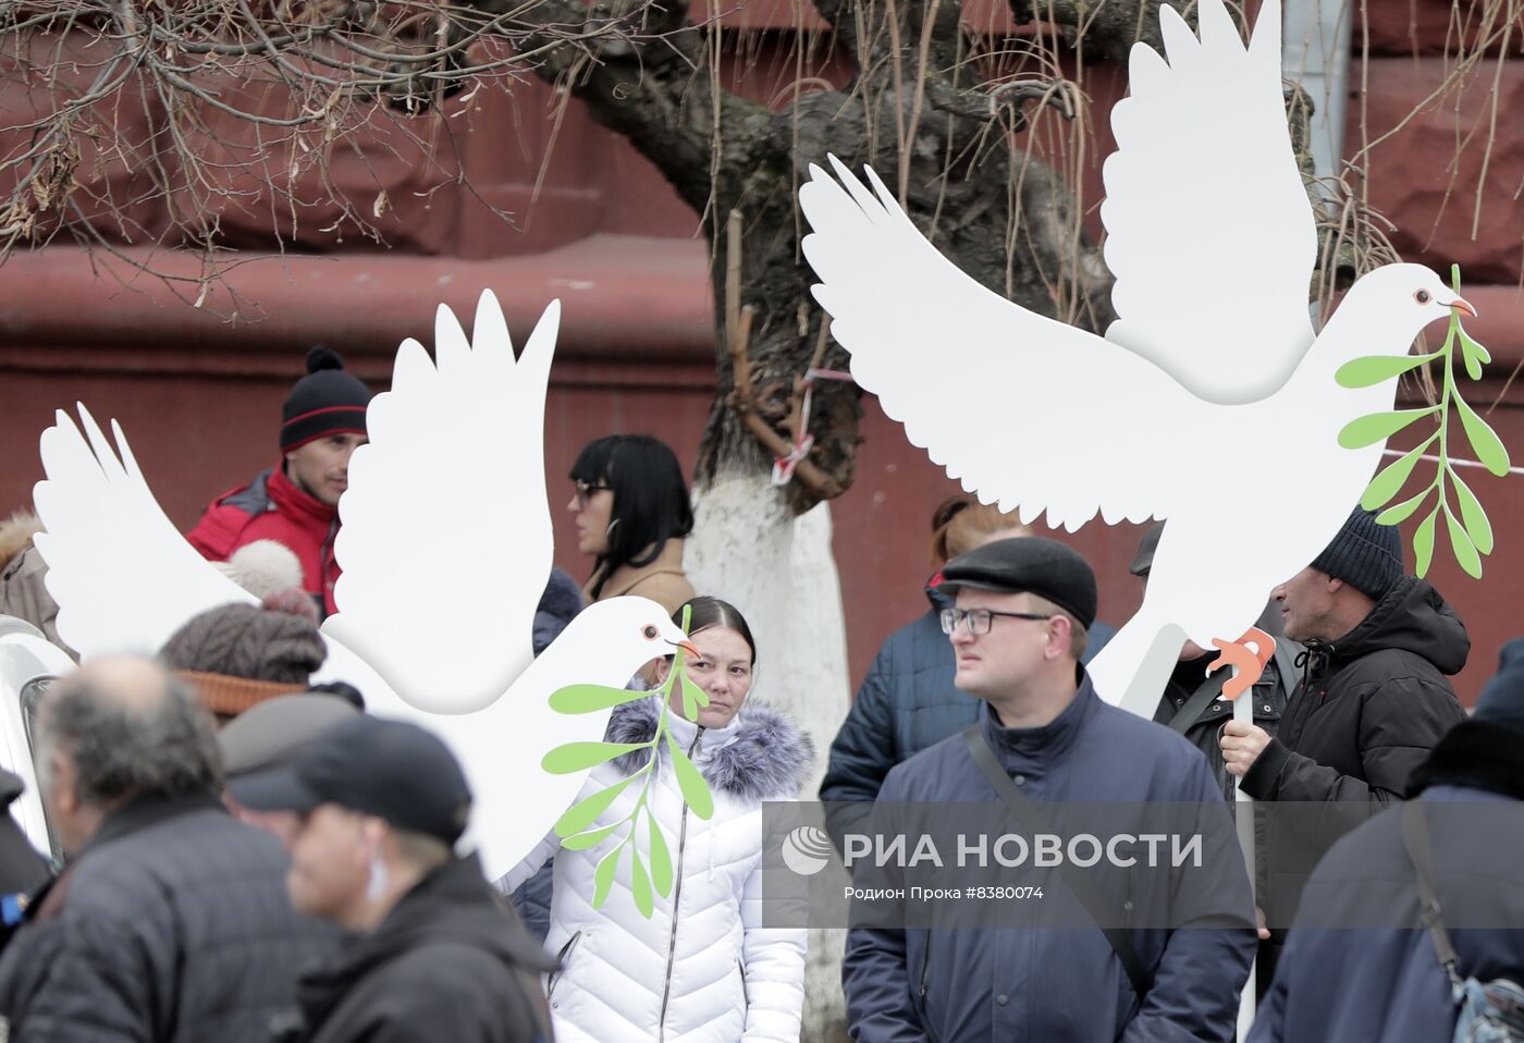
<svg viewBox="0 0 1524 1043"><path fill-rule="evenodd" d="M661 706L655 695L616 706L608 718L610 743L649 743ZM678 727L690 723L678 718ZM715 746L710 747L710 738ZM648 750L614 759L623 775L645 767ZM745 703L724 729L704 735L700 770L709 784L742 801L796 797L815 759L815 746L786 717L764 703Z"/></svg>

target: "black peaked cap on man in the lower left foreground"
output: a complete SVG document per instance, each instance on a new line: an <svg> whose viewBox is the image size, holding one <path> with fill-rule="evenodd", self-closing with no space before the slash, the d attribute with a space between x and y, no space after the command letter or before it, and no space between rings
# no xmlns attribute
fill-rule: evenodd
<svg viewBox="0 0 1524 1043"><path fill-rule="evenodd" d="M287 765L229 779L227 791L255 811L337 804L451 845L471 813L465 775L439 737L369 715L323 729Z"/></svg>

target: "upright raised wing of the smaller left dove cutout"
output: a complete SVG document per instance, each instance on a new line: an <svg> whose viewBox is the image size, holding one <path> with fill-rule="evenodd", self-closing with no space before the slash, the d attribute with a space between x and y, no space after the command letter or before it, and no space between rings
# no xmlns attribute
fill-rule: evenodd
<svg viewBox="0 0 1524 1043"><path fill-rule="evenodd" d="M419 709L479 709L529 665L550 575L543 442L559 320L552 302L515 360L491 291L471 340L440 305L434 358L402 343L351 457L323 633Z"/></svg>

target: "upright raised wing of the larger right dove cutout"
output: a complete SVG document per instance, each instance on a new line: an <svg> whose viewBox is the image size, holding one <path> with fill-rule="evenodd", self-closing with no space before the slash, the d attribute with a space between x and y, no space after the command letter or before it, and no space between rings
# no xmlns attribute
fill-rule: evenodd
<svg viewBox="0 0 1524 1043"><path fill-rule="evenodd" d="M1196 395L1245 403L1280 387L1312 345L1312 207L1280 87L1280 5L1245 49L1222 0L1201 40L1160 9L1166 64L1132 47L1131 95L1111 110L1102 169L1105 256L1119 319L1106 339Z"/></svg>

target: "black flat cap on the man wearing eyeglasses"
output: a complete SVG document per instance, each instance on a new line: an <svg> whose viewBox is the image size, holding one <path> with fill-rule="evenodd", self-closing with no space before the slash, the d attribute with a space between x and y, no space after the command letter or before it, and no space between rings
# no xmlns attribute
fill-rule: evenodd
<svg viewBox="0 0 1524 1043"><path fill-rule="evenodd" d="M942 590L959 587L1047 598L1087 630L1096 622L1096 573L1058 540L1015 537L962 554L942 570Z"/></svg>

